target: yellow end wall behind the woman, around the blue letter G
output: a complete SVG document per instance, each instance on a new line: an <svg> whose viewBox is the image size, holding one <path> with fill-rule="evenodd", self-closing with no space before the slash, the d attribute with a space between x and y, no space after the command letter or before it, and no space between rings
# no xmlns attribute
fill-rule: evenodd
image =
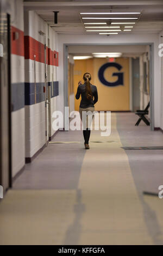
<svg viewBox="0 0 163 256"><path fill-rule="evenodd" d="M123 86L108 87L98 79L98 70L107 61L105 58L93 58L89 60L76 60L74 63L74 93L77 92L78 81L82 80L85 72L92 75L92 84L97 86L98 102L95 105L97 111L128 111L129 110L129 58L116 58L115 62L122 65L121 71L114 67L105 70L104 76L109 82L115 82L117 76L113 72L123 72ZM83 80L82 80L83 81ZM80 100L75 100L75 109L79 109Z"/></svg>

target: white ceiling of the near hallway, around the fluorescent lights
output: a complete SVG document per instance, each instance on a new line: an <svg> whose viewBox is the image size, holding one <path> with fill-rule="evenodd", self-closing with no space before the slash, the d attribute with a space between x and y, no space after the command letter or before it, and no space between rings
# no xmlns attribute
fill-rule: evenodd
<svg viewBox="0 0 163 256"><path fill-rule="evenodd" d="M86 32L84 22L105 22L105 20L82 20L82 17L137 17L131 31L118 32L118 34L145 34L159 33L163 29L163 0L119 0L119 1L24 1L27 10L35 10L43 20L53 27L58 34L98 34L99 32ZM58 24L54 24L53 11L59 11ZM141 12L140 15L80 15L80 13L105 12ZM135 22L135 20L112 20L112 22ZM87 25L89 26L89 25ZM90 25L93 26L93 25ZM95 25L99 26L99 25ZM102 26L102 25L101 25ZM103 25L105 26L105 25ZM118 25L111 25L118 26ZM88 28L95 30L96 28ZM105 28L104 28L105 29ZM114 28L112 28L114 29ZM115 28L116 29L116 28ZM117 28L118 29L118 28ZM99 35L101 36L101 35ZM117 36L117 35L112 35Z"/></svg>

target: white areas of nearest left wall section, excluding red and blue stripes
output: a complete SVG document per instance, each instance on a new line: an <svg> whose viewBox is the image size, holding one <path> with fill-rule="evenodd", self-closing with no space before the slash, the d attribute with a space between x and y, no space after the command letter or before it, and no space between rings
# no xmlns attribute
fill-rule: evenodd
<svg viewBox="0 0 163 256"><path fill-rule="evenodd" d="M10 0L10 21L21 31L24 31L23 0ZM24 82L24 57L11 54L11 84ZM23 84L22 84L23 86ZM18 92L17 92L18 94ZM18 95L17 95L18 96ZM12 177L25 164L25 124L24 107L11 113L11 145L12 145Z"/></svg>

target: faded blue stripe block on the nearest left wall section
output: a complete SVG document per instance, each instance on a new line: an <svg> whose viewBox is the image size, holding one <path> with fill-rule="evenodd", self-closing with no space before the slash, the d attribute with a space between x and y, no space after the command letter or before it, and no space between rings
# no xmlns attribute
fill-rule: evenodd
<svg viewBox="0 0 163 256"><path fill-rule="evenodd" d="M24 107L24 83L11 84L11 105L12 111Z"/></svg>

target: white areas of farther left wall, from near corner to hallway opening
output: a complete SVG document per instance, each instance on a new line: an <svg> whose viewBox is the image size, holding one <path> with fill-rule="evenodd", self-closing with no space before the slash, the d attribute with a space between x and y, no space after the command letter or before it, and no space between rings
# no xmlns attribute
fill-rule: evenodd
<svg viewBox="0 0 163 256"><path fill-rule="evenodd" d="M58 35L48 24L34 11L26 11L24 34L29 35L35 40L45 44L52 51L58 51ZM45 33L40 35L39 31ZM46 37L46 40L45 40ZM26 74L25 82L34 83L34 60L25 60ZM35 62L36 83L45 82L45 64ZM47 83L58 81L58 66L46 65ZM60 92L59 92L60 93ZM53 122L52 114L58 110L58 96L51 99L51 124ZM47 115L45 113L45 101L34 105L26 106L26 157L32 157L48 141L48 135L53 136L54 130L49 127L49 105L47 105ZM47 137L45 137L45 128L47 120Z"/></svg>

